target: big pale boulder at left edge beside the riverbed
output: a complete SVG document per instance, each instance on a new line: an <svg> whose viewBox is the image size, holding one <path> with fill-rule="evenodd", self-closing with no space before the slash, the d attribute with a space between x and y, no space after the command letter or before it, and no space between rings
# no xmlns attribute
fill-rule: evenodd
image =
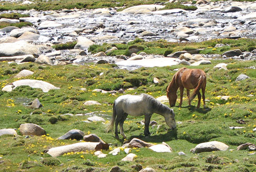
<svg viewBox="0 0 256 172"><path fill-rule="evenodd" d="M26 41L16 41L13 43L2 43L0 46L0 57L33 55L38 57L40 51L36 45Z"/></svg>

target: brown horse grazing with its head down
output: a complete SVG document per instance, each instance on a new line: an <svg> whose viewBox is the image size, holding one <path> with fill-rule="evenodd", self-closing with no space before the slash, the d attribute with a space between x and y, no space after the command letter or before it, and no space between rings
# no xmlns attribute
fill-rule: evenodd
<svg viewBox="0 0 256 172"><path fill-rule="evenodd" d="M172 81L170 82L169 86L167 87L167 97L169 99L170 107L175 106L177 100L177 90L180 88L180 104L179 107L182 105L182 97L183 97L183 90L186 88L187 90L187 97L188 97L188 105L191 105L191 101L198 96L198 104L197 108L200 108L201 103L201 94L200 89L202 89L203 94L203 102L205 108L205 87L206 87L206 75L205 72L201 69L188 69L188 68L181 68L179 69ZM189 95L189 90L195 89L192 95Z"/></svg>

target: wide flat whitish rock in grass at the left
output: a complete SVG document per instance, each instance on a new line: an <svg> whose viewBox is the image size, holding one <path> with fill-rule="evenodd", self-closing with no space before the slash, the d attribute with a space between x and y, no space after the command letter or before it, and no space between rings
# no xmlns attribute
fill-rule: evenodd
<svg viewBox="0 0 256 172"><path fill-rule="evenodd" d="M12 83L12 85L14 86L12 88L12 90L18 86L24 86L24 85L30 86L32 88L40 88L40 89L42 89L43 92L48 92L51 89L59 89L58 87L55 87L54 85L52 85L48 82L40 81L40 80L29 80L29 79L15 81ZM7 85L7 86L8 86L8 88L10 87L9 85ZM7 86L5 86L5 87L7 87ZM5 90L5 87L2 90Z"/></svg>

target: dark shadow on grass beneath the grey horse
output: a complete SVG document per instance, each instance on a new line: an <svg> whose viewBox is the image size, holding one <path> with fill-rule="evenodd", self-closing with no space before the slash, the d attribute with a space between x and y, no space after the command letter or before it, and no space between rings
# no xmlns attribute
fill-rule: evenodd
<svg viewBox="0 0 256 172"><path fill-rule="evenodd" d="M133 138L141 139L145 142L163 142L163 141L170 141L174 139L178 139L177 137L177 129L176 130L169 130L165 134L156 134L154 136L144 136L144 135L133 135L129 138L131 141Z"/></svg>

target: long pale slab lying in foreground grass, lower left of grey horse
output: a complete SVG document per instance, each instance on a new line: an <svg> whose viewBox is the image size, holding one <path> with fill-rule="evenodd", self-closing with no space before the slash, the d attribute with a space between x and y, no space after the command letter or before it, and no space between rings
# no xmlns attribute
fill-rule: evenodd
<svg viewBox="0 0 256 172"><path fill-rule="evenodd" d="M52 157L58 157L65 153L69 152L86 152L86 151L93 151L95 150L96 146L99 142L81 142L81 143L74 143L65 146L59 146L56 148L51 148L47 152L47 154L51 155Z"/></svg>

